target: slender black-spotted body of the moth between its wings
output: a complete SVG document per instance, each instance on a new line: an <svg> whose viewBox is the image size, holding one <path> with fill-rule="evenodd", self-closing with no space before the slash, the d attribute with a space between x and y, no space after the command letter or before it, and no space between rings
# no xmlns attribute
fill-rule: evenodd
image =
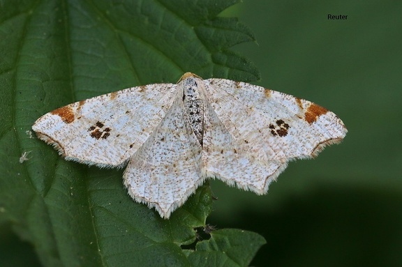
<svg viewBox="0 0 402 267"><path fill-rule="evenodd" d="M200 97L200 90L195 79L187 79L184 83L183 103L191 128L193 128L195 137L197 137L202 146L204 137L204 103Z"/></svg>

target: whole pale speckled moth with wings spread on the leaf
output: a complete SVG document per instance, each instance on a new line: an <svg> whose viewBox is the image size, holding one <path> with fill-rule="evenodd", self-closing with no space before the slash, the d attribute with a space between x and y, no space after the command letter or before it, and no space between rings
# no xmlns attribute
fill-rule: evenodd
<svg viewBox="0 0 402 267"><path fill-rule="evenodd" d="M341 142L346 128L307 100L186 73L49 112L32 127L67 160L122 167L135 201L162 218L206 178L264 194L290 160Z"/></svg>

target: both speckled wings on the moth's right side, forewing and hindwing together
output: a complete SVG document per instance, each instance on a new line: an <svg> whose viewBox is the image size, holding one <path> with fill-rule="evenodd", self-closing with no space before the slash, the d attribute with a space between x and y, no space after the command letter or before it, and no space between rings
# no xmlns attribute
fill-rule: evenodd
<svg viewBox="0 0 402 267"><path fill-rule="evenodd" d="M230 185L263 194L289 160L311 158L346 135L334 113L307 100L228 79L204 82L205 168Z"/></svg>

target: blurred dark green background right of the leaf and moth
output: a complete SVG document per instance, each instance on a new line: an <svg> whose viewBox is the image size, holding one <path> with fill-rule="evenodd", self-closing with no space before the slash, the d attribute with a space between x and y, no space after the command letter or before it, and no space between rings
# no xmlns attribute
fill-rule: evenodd
<svg viewBox="0 0 402 267"><path fill-rule="evenodd" d="M327 107L349 132L291 162L266 196L211 183L217 227L267 239L255 266L402 266L402 2L244 1L258 84ZM328 14L348 15L328 20Z"/></svg>

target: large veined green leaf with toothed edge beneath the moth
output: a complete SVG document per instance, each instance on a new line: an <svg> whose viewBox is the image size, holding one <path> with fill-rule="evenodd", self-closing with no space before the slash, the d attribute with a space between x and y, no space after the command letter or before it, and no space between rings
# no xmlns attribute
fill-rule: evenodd
<svg viewBox="0 0 402 267"><path fill-rule="evenodd" d="M230 51L251 32L216 17L237 1L219 2L0 2L0 225L33 244L44 266L191 264L181 245L211 211L207 183L163 220L128 196L122 170L66 162L31 125L71 102L187 71L258 79Z"/></svg>

